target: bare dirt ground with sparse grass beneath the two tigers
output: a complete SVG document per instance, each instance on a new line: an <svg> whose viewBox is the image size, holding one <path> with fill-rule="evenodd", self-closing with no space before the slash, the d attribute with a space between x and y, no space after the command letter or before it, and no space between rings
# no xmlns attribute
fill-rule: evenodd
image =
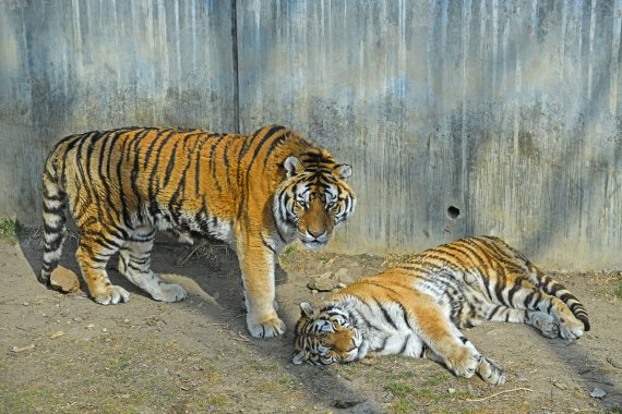
<svg viewBox="0 0 622 414"><path fill-rule="evenodd" d="M65 243L61 264L77 271L75 246L75 239ZM505 385L490 387L427 360L291 364L298 304L328 295L309 290L310 278L340 271L356 279L384 269L391 260L380 257L288 248L277 272L288 331L255 340L244 327L236 255L225 246L156 244L154 270L189 292L179 303L153 301L116 270L110 278L132 293L129 303L57 293L36 280L40 256L33 234L0 243L4 413L622 413L620 272L553 275L590 315L591 331L575 343L527 326L467 330L507 373Z"/></svg>

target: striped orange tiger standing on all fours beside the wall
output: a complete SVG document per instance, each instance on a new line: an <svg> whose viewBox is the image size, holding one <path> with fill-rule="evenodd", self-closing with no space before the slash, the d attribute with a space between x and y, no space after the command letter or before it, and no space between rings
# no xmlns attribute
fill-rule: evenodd
<svg viewBox="0 0 622 414"><path fill-rule="evenodd" d="M274 267L278 253L299 239L323 247L355 208L346 180L351 167L285 126L252 135L162 127L128 127L71 135L59 142L44 171L44 265L49 283L65 235L69 200L81 232L75 257L95 302L127 302L108 279L119 271L157 301L186 296L149 268L156 230L181 240L212 236L236 251L247 325L253 337L276 337Z"/></svg>

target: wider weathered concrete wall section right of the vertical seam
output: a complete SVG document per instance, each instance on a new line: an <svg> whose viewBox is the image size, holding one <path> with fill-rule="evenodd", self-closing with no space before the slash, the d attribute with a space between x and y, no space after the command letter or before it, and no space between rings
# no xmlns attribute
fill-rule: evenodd
<svg viewBox="0 0 622 414"><path fill-rule="evenodd" d="M622 266L621 20L621 1L242 1L241 129L284 122L354 166L336 248L487 233Z"/></svg>

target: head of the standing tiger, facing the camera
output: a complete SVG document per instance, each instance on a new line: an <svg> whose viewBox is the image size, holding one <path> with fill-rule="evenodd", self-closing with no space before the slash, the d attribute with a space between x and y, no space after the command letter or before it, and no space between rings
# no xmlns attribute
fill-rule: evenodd
<svg viewBox="0 0 622 414"><path fill-rule="evenodd" d="M324 247L335 226L355 209L356 196L346 183L352 168L319 149L288 157L284 168L286 178L274 197L277 223L307 247Z"/></svg>

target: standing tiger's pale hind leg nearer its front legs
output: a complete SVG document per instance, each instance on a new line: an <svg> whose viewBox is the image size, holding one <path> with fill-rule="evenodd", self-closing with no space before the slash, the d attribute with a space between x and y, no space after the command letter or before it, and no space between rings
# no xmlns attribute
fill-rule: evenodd
<svg viewBox="0 0 622 414"><path fill-rule="evenodd" d="M129 281L147 292L154 300L177 302L186 297L186 291L178 284L163 282L151 270L151 252L155 230L135 230L119 249L119 272Z"/></svg>

